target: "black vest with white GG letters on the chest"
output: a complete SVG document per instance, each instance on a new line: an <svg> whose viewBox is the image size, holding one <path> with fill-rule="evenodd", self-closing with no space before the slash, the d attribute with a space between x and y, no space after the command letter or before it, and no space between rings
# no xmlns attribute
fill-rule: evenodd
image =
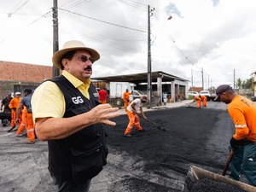
<svg viewBox="0 0 256 192"><path fill-rule="evenodd" d="M62 91L66 111L63 118L86 113L100 104L95 86L91 83L88 100L64 76L49 79ZM65 126L65 125L63 125ZM108 148L103 124L90 125L72 136L48 141L49 172L58 180L79 183L95 177L107 164Z"/></svg>

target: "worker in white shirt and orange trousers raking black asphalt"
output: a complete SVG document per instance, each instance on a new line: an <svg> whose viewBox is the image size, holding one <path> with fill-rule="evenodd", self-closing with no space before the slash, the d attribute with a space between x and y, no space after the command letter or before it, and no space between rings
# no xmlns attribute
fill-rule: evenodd
<svg viewBox="0 0 256 192"><path fill-rule="evenodd" d="M147 120L147 117L145 116L143 112L143 103L147 102L147 96L142 96L141 98L137 98L133 100L130 105L127 107L127 115L129 117L129 124L125 130L125 137L131 137L131 130L133 128L133 125L136 126L137 131L143 131L143 127L140 125L140 119L137 115L137 111L140 110L141 114L143 115L143 119Z"/></svg>

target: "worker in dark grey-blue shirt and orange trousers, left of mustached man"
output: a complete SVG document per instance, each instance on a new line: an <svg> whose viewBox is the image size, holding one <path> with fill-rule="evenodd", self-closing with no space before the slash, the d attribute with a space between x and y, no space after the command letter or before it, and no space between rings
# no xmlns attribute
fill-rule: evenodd
<svg viewBox="0 0 256 192"><path fill-rule="evenodd" d="M31 105L31 98L32 98L32 90L25 89L24 90L24 98L20 101L20 105L17 109L17 115L21 113L21 108L25 106L27 108L26 113L26 134L28 143L35 143L35 133L34 133L34 123L32 118L32 105ZM19 122L20 119L16 119L16 122Z"/></svg>

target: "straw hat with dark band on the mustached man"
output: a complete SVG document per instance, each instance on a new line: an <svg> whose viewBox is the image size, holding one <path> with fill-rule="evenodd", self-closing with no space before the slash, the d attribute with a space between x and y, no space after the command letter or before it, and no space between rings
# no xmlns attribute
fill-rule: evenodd
<svg viewBox="0 0 256 192"><path fill-rule="evenodd" d="M55 54L52 56L52 62L55 65L55 67L61 68L61 59L63 55L67 54L67 52L71 50L78 50L78 49L84 49L89 51L90 56L94 61L97 61L100 59L100 55L95 49L86 47L83 42L72 40L72 41L67 41L63 45L63 49L56 51Z"/></svg>

